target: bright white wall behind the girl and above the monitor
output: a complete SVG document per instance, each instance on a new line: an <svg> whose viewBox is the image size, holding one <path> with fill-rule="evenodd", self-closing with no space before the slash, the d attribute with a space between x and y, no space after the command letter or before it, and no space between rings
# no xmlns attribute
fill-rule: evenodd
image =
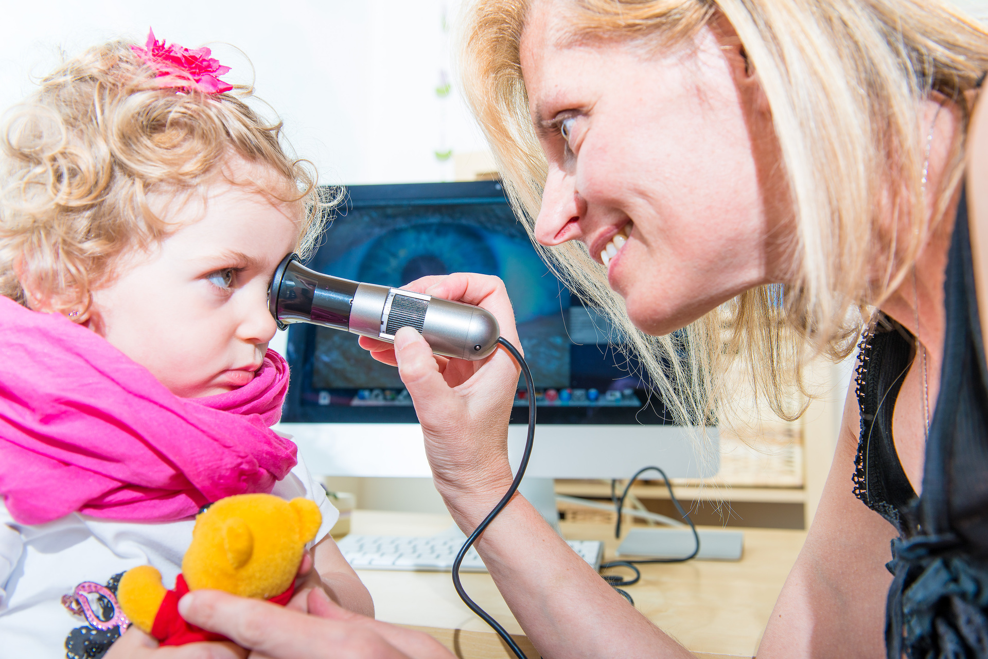
<svg viewBox="0 0 988 659"><path fill-rule="evenodd" d="M285 121L295 150L328 183L452 180L437 150L484 148L453 93L444 0L53 0L3 3L0 109L7 109L58 61L88 45L124 38L209 45L233 67L231 82L255 78L257 94ZM217 43L218 42L218 43ZM244 55L232 46L242 49Z"/></svg>

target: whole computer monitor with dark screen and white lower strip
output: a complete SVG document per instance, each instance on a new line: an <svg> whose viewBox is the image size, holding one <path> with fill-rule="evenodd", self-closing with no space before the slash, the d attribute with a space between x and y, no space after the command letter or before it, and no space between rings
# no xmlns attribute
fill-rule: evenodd
<svg viewBox="0 0 988 659"><path fill-rule="evenodd" d="M529 477L627 478L650 464L671 477L716 472L716 452L698 458L689 431L673 425L609 343L607 320L539 259L500 183L350 187L307 265L390 287L454 272L500 277L535 381L535 391L519 382L509 429L517 466L535 395ZM286 350L291 381L281 429L313 473L431 475L397 369L373 361L355 335L314 325L291 325Z"/></svg>

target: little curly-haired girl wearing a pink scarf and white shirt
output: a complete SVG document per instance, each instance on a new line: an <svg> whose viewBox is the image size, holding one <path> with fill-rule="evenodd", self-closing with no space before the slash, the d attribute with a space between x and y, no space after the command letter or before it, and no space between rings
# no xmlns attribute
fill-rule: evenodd
<svg viewBox="0 0 988 659"><path fill-rule="evenodd" d="M119 575L150 564L172 587L197 512L250 492L318 504L306 588L372 615L336 510L269 429L288 366L267 288L323 208L228 70L153 34L111 42L6 120L0 657L103 656Z"/></svg>

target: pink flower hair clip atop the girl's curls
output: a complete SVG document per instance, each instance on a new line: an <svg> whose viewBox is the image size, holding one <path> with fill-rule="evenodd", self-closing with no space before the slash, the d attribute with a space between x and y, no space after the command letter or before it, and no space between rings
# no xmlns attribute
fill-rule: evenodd
<svg viewBox="0 0 988 659"><path fill-rule="evenodd" d="M230 67L211 58L209 48L190 50L176 43L166 46L165 41L157 41L154 31L150 30L144 47L131 45L130 50L157 71L156 81L162 89L174 87L204 94L222 94L233 89L233 85L219 79Z"/></svg>

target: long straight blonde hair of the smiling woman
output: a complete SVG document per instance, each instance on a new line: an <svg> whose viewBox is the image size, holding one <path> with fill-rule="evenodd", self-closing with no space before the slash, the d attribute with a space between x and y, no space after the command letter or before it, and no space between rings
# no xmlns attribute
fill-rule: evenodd
<svg viewBox="0 0 988 659"><path fill-rule="evenodd" d="M546 161L519 47L537 1L468 3L459 41L467 103L530 234ZM963 128L935 217L956 190L969 115L964 93L988 69L988 34L939 0L561 0L554 15L575 41L672 49L690 47L718 13L736 31L772 110L797 222L790 284L752 288L684 331L652 337L631 325L582 243L537 247L567 286L608 313L613 339L640 357L679 420L722 411L728 373L739 367L778 415L794 419L807 400L792 395L808 393L806 360L851 353L867 307L898 287L929 235L920 110L933 92L956 104ZM877 261L876 245L887 247Z"/></svg>

